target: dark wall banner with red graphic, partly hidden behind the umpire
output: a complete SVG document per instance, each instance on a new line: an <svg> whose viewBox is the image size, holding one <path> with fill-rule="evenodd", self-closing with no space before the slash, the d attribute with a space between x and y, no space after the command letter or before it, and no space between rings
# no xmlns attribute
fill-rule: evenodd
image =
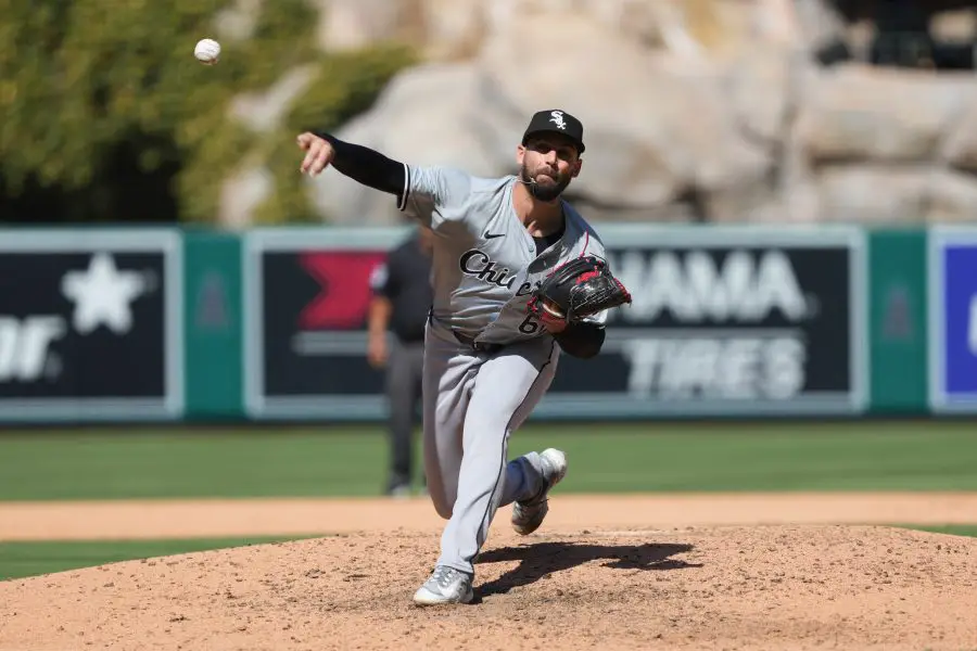
<svg viewBox="0 0 977 651"><path fill-rule="evenodd" d="M404 229L268 229L245 240L245 408L252 418L384 418L367 361L369 279Z"/></svg>

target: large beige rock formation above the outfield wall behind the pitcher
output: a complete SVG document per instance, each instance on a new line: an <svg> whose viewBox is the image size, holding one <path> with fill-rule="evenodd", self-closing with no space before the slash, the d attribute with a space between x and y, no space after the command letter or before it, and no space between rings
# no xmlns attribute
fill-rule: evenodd
<svg viewBox="0 0 977 651"><path fill-rule="evenodd" d="M584 124L568 195L593 219L977 215L977 77L868 64L871 26L826 0L319 3L326 50L399 39L424 55L337 132L394 158L511 173L529 115L560 107ZM819 61L838 47L852 56ZM323 220L399 220L339 174L306 188Z"/></svg>

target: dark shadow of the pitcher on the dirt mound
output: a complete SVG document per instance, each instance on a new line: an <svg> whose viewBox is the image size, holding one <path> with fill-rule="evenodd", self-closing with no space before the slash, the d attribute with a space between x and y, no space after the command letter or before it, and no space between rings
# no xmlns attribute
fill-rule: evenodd
<svg viewBox="0 0 977 651"><path fill-rule="evenodd" d="M605 567L614 570L684 570L701 567L672 557L691 551L686 544L591 545L576 542L535 542L519 547L503 547L479 554L475 564L521 561L498 578L480 586L475 598L504 595L512 588L528 586L545 576L605 559Z"/></svg>

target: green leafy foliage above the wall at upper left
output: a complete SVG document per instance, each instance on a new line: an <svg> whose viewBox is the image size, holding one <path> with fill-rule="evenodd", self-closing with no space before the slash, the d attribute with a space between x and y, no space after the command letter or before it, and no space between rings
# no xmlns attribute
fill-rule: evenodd
<svg viewBox="0 0 977 651"><path fill-rule="evenodd" d="M306 0L265 0L251 37L215 36L221 61L201 65L193 46L230 5L0 0L0 218L211 221L223 182L251 165L277 181L264 220L310 217L295 130L365 110L413 60L398 47L326 55ZM280 124L253 132L231 116L234 98L302 65L315 81Z"/></svg>

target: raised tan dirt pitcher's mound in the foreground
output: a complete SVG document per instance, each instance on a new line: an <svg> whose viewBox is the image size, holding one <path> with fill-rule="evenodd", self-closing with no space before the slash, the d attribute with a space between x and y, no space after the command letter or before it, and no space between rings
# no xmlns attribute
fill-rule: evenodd
<svg viewBox="0 0 977 651"><path fill-rule="evenodd" d="M392 532L0 584L2 649L963 649L977 540L885 527L499 532L478 603L419 609L437 535Z"/></svg>

